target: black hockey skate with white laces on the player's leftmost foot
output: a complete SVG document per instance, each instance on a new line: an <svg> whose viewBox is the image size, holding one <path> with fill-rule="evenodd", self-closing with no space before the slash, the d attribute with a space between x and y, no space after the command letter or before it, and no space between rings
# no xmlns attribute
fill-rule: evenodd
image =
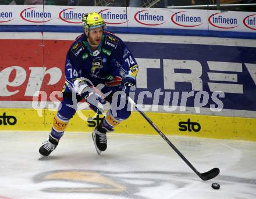
<svg viewBox="0 0 256 199"><path fill-rule="evenodd" d="M59 141L57 139L49 135L49 139L43 142L42 146L39 149L39 153L41 154L41 157L39 158L39 160L51 154L52 151L54 151L58 146L58 143Z"/></svg>

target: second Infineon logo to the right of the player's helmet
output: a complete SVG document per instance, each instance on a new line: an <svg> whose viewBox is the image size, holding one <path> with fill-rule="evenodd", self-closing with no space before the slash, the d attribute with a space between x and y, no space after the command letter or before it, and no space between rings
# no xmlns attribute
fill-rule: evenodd
<svg viewBox="0 0 256 199"><path fill-rule="evenodd" d="M135 13L134 19L146 26L159 26L165 21L163 20L163 15L151 15L150 10L140 10ZM162 23L159 23L162 22Z"/></svg>

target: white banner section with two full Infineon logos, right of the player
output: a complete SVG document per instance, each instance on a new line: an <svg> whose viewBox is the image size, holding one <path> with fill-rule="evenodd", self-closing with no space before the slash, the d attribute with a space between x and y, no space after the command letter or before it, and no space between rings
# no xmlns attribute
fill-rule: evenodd
<svg viewBox="0 0 256 199"><path fill-rule="evenodd" d="M129 27L207 30L207 10L127 8Z"/></svg>

